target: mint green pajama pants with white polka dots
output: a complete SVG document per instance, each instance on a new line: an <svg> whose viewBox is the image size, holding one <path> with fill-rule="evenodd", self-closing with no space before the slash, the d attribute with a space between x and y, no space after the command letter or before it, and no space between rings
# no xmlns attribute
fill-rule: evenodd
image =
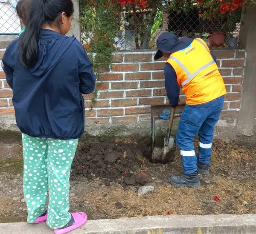
<svg viewBox="0 0 256 234"><path fill-rule="evenodd" d="M34 223L45 213L49 191L47 225L53 229L61 228L71 219L69 179L78 139L56 140L22 134L22 143L27 221Z"/></svg>

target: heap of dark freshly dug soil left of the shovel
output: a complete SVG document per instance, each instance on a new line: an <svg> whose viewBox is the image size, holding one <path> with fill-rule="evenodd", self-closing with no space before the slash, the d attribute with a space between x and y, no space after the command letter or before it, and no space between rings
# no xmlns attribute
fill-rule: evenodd
<svg viewBox="0 0 256 234"><path fill-rule="evenodd" d="M88 179L101 177L106 185L112 181L135 185L137 172L150 157L150 142L140 140L135 143L130 139L97 140L84 143L77 151L72 164L72 172L82 174ZM140 178L137 181L140 182ZM142 182L143 183L143 182Z"/></svg>

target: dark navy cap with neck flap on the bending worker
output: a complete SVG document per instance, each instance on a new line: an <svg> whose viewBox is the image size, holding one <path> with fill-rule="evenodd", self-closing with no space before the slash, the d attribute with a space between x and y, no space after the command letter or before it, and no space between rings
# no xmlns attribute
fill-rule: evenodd
<svg viewBox="0 0 256 234"><path fill-rule="evenodd" d="M181 49L185 49L192 43L193 39L189 37L183 37L178 39L172 32L164 32L157 38L157 53L154 56L154 60L163 57L163 52L172 54Z"/></svg>

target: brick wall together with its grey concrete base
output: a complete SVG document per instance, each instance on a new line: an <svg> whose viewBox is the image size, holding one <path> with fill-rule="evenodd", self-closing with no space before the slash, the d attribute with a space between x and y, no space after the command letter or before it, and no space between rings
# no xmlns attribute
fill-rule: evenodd
<svg viewBox="0 0 256 234"><path fill-rule="evenodd" d="M0 59L4 49L0 49ZM97 94L84 96L85 122L88 133L97 134L150 134L151 114L160 114L168 108L164 88L164 60L154 61L155 51L115 53L113 68L98 77ZM218 67L227 89L220 130L236 126L236 114L241 107L242 85L246 53L244 50L214 50ZM15 110L12 90L6 83L0 67L0 128L15 128ZM91 108L91 99L97 103ZM185 103L180 94L180 103ZM183 105L184 106L184 105ZM166 130L166 121L158 121L158 132ZM177 121L176 121L177 122Z"/></svg>

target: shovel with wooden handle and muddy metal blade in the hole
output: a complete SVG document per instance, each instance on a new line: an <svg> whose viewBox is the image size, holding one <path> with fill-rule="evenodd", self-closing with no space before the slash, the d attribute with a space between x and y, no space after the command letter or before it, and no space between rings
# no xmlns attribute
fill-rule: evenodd
<svg viewBox="0 0 256 234"><path fill-rule="evenodd" d="M174 139L171 137L171 131L172 131L172 123L173 123L174 116L175 116L175 108L172 108L168 129L167 129L167 134L166 134L166 137L164 138L163 148L154 147L154 135L152 136L153 137L153 145L152 145L153 162L163 162L164 158L166 157L166 154L172 150L172 147L174 145Z"/></svg>

